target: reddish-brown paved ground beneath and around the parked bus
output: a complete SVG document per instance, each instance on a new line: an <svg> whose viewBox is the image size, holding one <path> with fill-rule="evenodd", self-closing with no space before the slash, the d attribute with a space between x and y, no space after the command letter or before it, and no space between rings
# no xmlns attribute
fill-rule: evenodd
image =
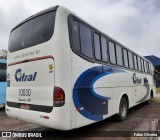
<svg viewBox="0 0 160 140"><path fill-rule="evenodd" d="M87 132L87 137L83 139L98 139L103 138L106 140L116 140L117 138L108 138L105 135L112 131L121 131L121 135L125 136L126 131L155 131L160 130L160 104L147 104L143 103L129 110L127 120L123 122L117 122L113 117L110 117L101 122L97 122L79 129L71 130L68 132L57 131L36 124L16 120L6 116L4 109L0 109L0 131L37 131L37 132L49 132L52 137L73 135L81 136L81 133ZM88 133L91 132L91 133ZM100 133L101 132L101 133ZM82 134L83 135L83 134ZM112 134L114 135L114 134ZM94 137L93 137L94 136ZM116 136L116 133L115 133ZM138 138L138 137L137 137ZM50 138L51 139L51 138ZM81 137L74 137L72 139L81 139ZM118 138L122 139L122 138ZM130 140L131 138L124 138ZM153 138L158 139L158 138ZM133 139L138 140L138 139ZM148 138L146 139L148 140Z"/></svg>

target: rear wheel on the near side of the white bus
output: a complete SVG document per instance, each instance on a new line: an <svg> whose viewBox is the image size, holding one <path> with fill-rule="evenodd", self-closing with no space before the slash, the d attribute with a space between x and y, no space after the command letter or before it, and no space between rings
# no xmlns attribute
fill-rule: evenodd
<svg viewBox="0 0 160 140"><path fill-rule="evenodd" d="M125 97L121 98L119 104L119 113L116 115L118 121L122 122L127 118L128 114L128 103Z"/></svg>

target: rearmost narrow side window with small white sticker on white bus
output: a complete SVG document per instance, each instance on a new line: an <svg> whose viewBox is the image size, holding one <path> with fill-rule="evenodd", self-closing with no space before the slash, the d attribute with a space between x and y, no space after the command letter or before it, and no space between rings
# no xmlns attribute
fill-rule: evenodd
<svg viewBox="0 0 160 140"><path fill-rule="evenodd" d="M72 21L72 43L74 49L80 52L79 23L75 20Z"/></svg>

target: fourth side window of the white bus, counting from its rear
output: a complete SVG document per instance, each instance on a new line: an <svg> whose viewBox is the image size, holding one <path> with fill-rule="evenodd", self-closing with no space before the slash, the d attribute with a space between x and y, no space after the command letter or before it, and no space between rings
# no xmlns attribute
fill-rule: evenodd
<svg viewBox="0 0 160 140"><path fill-rule="evenodd" d="M104 62L108 61L108 45L107 45L107 40L101 36L101 47L102 47L102 60Z"/></svg>

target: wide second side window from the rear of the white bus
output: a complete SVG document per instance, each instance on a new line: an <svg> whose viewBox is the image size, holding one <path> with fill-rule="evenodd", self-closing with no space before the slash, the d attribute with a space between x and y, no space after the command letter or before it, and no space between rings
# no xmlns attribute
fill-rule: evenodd
<svg viewBox="0 0 160 140"><path fill-rule="evenodd" d="M93 58L92 31L84 24L80 24L81 53L89 58Z"/></svg>

